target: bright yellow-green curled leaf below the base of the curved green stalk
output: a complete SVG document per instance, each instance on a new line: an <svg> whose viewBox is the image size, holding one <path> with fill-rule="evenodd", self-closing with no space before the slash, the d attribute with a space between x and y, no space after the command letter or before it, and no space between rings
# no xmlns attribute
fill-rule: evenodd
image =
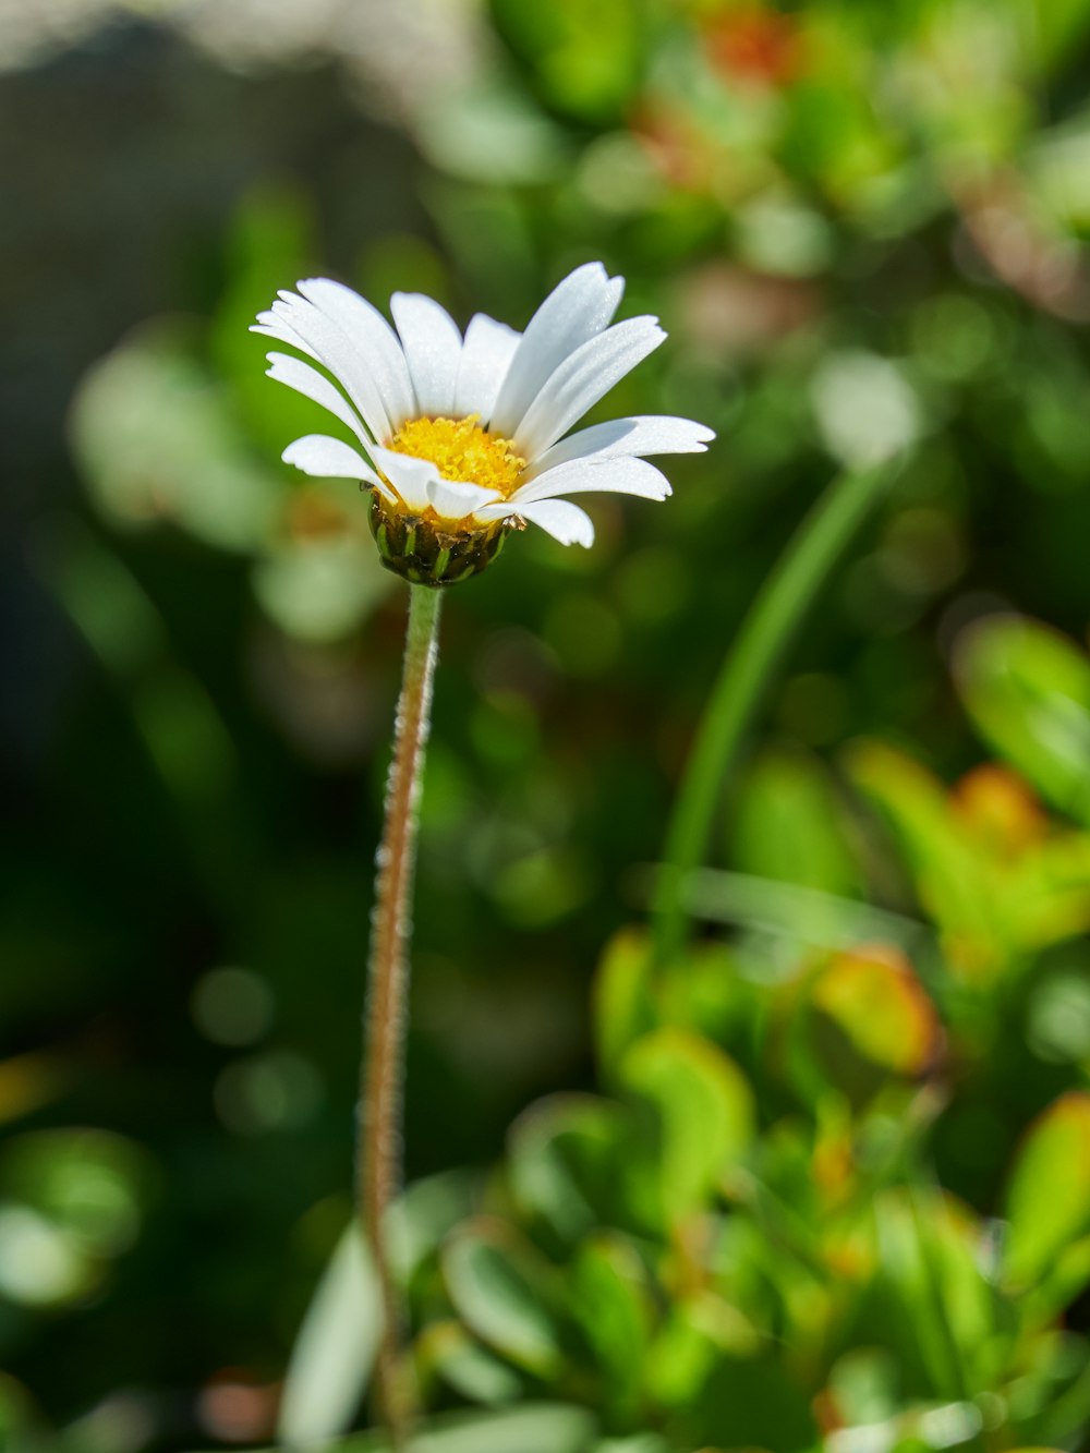
<svg viewBox="0 0 1090 1453"><path fill-rule="evenodd" d="M670 1027L637 1040L621 1077L657 1113L655 1200L666 1221L677 1223L703 1207L748 1146L753 1091L711 1040Z"/></svg>

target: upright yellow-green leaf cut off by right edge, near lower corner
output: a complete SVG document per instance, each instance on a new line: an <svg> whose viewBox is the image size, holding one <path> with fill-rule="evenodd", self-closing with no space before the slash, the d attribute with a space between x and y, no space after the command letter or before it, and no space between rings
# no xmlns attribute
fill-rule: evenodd
<svg viewBox="0 0 1090 1453"><path fill-rule="evenodd" d="M1026 1132L1006 1194L1003 1276L1025 1286L1090 1231L1090 1093L1061 1096Z"/></svg>

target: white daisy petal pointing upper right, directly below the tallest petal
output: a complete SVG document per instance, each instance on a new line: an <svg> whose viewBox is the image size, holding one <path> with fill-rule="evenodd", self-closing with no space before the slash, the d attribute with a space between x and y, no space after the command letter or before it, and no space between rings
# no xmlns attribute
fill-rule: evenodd
<svg viewBox="0 0 1090 1453"><path fill-rule="evenodd" d="M535 462L664 337L658 320L644 317L589 339L564 359L512 434L519 453Z"/></svg>

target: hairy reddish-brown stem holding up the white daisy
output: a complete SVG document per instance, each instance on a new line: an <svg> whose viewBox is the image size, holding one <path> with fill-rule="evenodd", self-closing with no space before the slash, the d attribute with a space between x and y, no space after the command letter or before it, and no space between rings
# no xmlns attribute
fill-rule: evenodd
<svg viewBox="0 0 1090 1453"><path fill-rule="evenodd" d="M382 1289L385 1325L378 1356L378 1391L397 1450L405 1447L413 1407L408 1388L398 1375L403 1315L389 1264L385 1219L391 1200L401 1189L410 902L424 744L432 718L432 680L439 654L440 600L439 590L410 586L405 658L394 726L394 760L387 783L382 844L378 850L375 878L365 1053L360 1071L359 1213Z"/></svg>

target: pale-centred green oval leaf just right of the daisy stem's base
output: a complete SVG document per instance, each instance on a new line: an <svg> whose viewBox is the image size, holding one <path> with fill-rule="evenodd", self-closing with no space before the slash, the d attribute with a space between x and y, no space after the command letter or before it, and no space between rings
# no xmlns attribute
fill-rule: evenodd
<svg viewBox="0 0 1090 1453"><path fill-rule="evenodd" d="M443 1248L455 1311L516 1366L552 1377L562 1364L548 1267L503 1225L469 1223Z"/></svg>

